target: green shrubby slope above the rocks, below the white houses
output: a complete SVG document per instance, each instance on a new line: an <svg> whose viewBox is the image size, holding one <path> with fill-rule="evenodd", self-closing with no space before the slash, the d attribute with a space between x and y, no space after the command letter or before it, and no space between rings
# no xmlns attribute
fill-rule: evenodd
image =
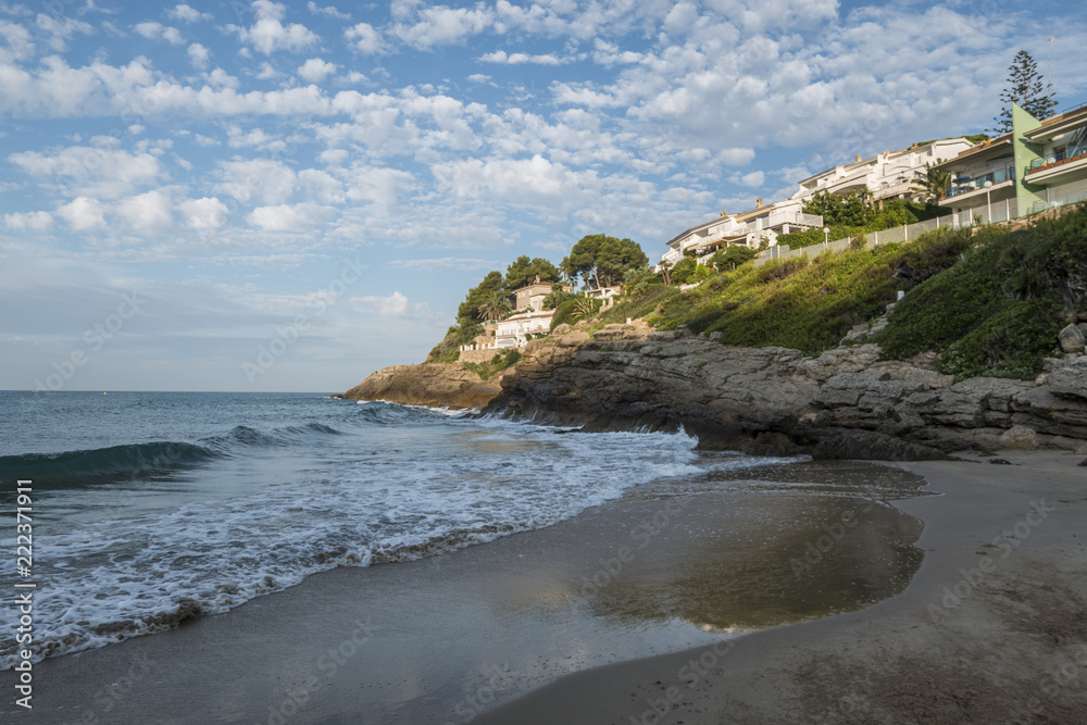
<svg viewBox="0 0 1087 725"><path fill-rule="evenodd" d="M725 345L817 354L907 296L873 338L888 359L939 353L958 379L1034 377L1058 333L1087 309L1087 208L1026 229L938 229L909 245L752 263L680 292L645 278L599 325L645 317L658 329L721 333Z"/></svg>

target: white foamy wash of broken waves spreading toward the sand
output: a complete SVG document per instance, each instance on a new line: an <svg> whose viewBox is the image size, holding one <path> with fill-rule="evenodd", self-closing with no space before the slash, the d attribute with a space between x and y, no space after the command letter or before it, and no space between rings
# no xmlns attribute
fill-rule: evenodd
<svg viewBox="0 0 1087 725"><path fill-rule="evenodd" d="M439 441L448 454L378 450L252 496L42 532L35 559L57 565L36 568L37 659L168 628L171 613L189 601L205 614L224 612L315 572L549 526L633 486L705 471L697 440L682 432L569 430L452 418ZM713 465L758 462L766 460ZM10 607L4 618L14 621ZM14 643L4 647L7 668Z"/></svg>

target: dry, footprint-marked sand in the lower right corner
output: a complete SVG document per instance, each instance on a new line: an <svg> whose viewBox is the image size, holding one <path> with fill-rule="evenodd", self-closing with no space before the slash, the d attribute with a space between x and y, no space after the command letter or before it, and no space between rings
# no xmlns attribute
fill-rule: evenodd
<svg viewBox="0 0 1087 725"><path fill-rule="evenodd" d="M896 503L925 522L901 595L571 675L478 722L1087 722L1087 476L1070 453L1004 458L895 464L944 495Z"/></svg>

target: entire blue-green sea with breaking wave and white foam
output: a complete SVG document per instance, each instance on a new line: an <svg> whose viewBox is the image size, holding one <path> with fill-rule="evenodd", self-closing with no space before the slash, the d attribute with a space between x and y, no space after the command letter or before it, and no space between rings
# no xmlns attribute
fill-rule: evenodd
<svg viewBox="0 0 1087 725"><path fill-rule="evenodd" d="M325 570L551 526L646 484L808 460L702 452L683 430L582 433L321 393L2 391L0 410L3 540L17 480L32 482L33 520L33 565L21 573L10 547L0 588L34 583L36 660ZM3 601L0 620L16 622ZM15 663L4 635L0 668Z"/></svg>

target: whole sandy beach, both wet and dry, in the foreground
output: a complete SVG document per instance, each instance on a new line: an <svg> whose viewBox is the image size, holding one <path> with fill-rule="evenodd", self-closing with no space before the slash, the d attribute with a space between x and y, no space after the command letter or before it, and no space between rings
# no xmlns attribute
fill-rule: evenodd
<svg viewBox="0 0 1087 725"><path fill-rule="evenodd" d="M170 632L48 659L35 666L33 713L5 704L0 714L35 723L1083 720L1080 458L1004 458L1011 465L792 466L838 466L838 478L867 484L873 470L903 486L920 475L941 493L895 497L894 509L747 492L714 503L704 491L650 484L544 529L336 568ZM742 557L722 550L723 522L732 541L750 534ZM910 555L913 540L923 561ZM809 542L822 555L805 561ZM760 559L763 549L787 555ZM767 568L771 578L760 574ZM745 576L754 578L728 585ZM809 596L816 588L823 596ZM729 608L737 589L773 592L776 603ZM855 611L835 613L848 600ZM0 673L0 686L10 689L13 674Z"/></svg>

